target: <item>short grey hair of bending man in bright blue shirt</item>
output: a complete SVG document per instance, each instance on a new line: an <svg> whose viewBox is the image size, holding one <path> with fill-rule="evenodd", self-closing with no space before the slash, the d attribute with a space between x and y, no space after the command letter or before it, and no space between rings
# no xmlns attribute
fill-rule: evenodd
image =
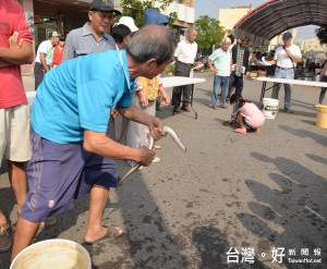
<svg viewBox="0 0 327 269"><path fill-rule="evenodd" d="M126 46L126 52L136 63L156 59L161 64L171 59L177 41L173 33L159 25L145 25L137 30Z"/></svg>

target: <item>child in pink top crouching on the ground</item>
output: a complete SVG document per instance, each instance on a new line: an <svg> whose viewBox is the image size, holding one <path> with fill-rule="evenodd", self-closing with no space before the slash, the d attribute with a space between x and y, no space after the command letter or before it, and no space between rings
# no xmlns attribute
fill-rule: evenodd
<svg viewBox="0 0 327 269"><path fill-rule="evenodd" d="M258 134L259 127L265 123L265 115L257 106L244 99L240 94L233 94L230 103L239 110L234 119L240 127L235 129L234 132L246 134L247 129L250 129L251 132Z"/></svg>

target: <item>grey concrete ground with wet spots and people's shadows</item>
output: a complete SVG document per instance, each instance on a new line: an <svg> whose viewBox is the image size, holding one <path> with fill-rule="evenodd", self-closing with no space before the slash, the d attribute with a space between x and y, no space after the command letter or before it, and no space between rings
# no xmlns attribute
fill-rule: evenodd
<svg viewBox="0 0 327 269"><path fill-rule="evenodd" d="M195 86L197 120L193 112L172 117L171 107L157 113L187 152L162 138L161 161L110 192L104 222L120 225L124 234L84 245L84 197L37 242L59 237L83 244L97 269L327 268L327 130L315 125L313 108L319 88L294 86L293 114L279 111L261 134L240 135L222 125L230 106L217 111L207 106L213 75L196 76L206 78ZM257 103L261 86L246 81L244 97ZM124 161L118 168L120 175L128 171ZM14 204L2 168L0 205L13 228ZM0 254L0 268L9 260L10 253Z"/></svg>

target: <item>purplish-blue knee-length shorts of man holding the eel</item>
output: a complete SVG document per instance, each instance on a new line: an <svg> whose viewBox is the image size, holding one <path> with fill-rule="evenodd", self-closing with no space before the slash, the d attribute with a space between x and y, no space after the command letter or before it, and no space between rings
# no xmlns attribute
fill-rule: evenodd
<svg viewBox="0 0 327 269"><path fill-rule="evenodd" d="M27 166L28 194L21 217L32 222L73 207L73 200L96 184L116 187L117 166L83 149L83 142L58 144L31 129L32 159Z"/></svg>

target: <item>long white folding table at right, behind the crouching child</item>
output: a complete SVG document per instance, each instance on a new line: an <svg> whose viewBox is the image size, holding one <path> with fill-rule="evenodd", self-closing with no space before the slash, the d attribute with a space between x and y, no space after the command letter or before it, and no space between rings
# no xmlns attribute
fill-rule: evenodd
<svg viewBox="0 0 327 269"><path fill-rule="evenodd" d="M278 77L267 77L267 76L261 76L254 78L254 81L263 82L263 87L262 87L262 94L261 94L261 99L259 99L259 106L263 105L263 98L265 97L265 93L272 88L274 85L269 88L267 88L267 82L271 83L287 83L287 84L294 84L294 85L302 85L302 86L312 86L312 87L327 87L326 82L313 82L313 81L302 81L302 80L289 80L289 78L278 78Z"/></svg>

